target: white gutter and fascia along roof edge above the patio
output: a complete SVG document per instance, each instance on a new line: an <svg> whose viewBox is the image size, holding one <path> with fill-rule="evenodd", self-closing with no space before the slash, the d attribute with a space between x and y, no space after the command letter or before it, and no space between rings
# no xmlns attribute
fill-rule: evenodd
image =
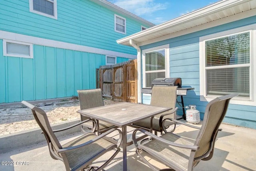
<svg viewBox="0 0 256 171"><path fill-rule="evenodd" d="M185 14L183 16L180 16L178 18L175 18L175 19L165 22L163 24L154 26L152 28L148 28L147 30L144 30L143 32L138 32L136 34L132 34L131 36L127 36L125 38L119 39L116 42L118 44L127 44L127 41L129 41L131 39L144 37L144 36L150 35L155 32L160 32L162 30L166 30L167 28L186 24L186 22L188 22L188 21L192 21L192 20L196 20L198 18L208 16L209 14L213 14L218 11L225 10L226 8L230 8L232 6L236 6L236 5L242 4L247 1L249 1L249 0L222 0L220 2L216 2L212 5L206 6L199 10L196 10L194 12L190 12L188 14Z"/></svg>

